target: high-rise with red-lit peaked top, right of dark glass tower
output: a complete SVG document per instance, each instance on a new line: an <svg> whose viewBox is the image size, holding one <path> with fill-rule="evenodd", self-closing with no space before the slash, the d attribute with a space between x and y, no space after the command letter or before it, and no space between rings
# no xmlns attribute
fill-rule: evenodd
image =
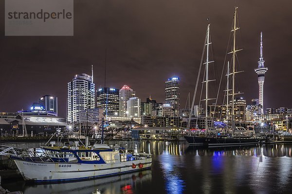
<svg viewBox="0 0 292 194"><path fill-rule="evenodd" d="M124 85L120 89L119 116L127 116L127 101L131 97L135 97L135 91L133 91L128 85Z"/></svg>

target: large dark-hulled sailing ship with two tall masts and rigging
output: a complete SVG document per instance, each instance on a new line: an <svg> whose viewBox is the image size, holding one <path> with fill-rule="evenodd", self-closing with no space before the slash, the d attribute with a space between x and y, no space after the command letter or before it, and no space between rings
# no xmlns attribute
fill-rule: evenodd
<svg viewBox="0 0 292 194"><path fill-rule="evenodd" d="M206 38L205 38L205 44L204 44L204 49L206 48L206 62L201 65L205 65L205 71L204 71L204 79L203 82L205 85L205 132L204 134L197 135L197 134L189 134L184 136L185 140L190 144L190 145L208 145L208 146L240 146L240 145L254 145L260 143L262 140L259 137L256 137L253 135L253 133L250 133L249 135L237 135L235 136L235 131L237 130L237 127L235 125L235 119L234 119L234 114L235 114L235 95L240 94L240 93L235 93L235 74L239 73L236 71L236 53L237 51L241 49L236 49L236 32L239 28L237 27L237 7L235 8L234 12L234 21L233 21L233 26L231 32L233 32L233 43L232 43L232 51L229 52L228 54L232 54L232 65L231 68L229 68L229 63L228 63L228 70L227 70L227 89L226 91L226 97L227 97L227 103L226 103L226 121L230 123L229 125L227 124L226 130L227 130L227 135L221 135L218 131L216 134L213 135L208 135L208 130L210 130L211 125L214 123L213 119L210 124L208 123L208 100L211 100L212 98L209 98L208 94L208 82L213 81L209 80L209 64L214 62L209 60L209 45L211 45L211 39L210 39L210 24L208 24L207 27L207 33L206 33ZM204 55L204 51L203 54ZM203 56L202 56L203 59ZM199 69L199 74L201 71L201 65ZM231 71L230 71L231 70ZM198 74L198 79L197 79L197 84L195 88L195 94L197 92L197 87L198 87L198 80L199 80L199 74ZM231 85L232 88L229 89L229 76L231 76ZM193 99L193 104L192 108L194 107L194 100L195 100L195 94L194 94L194 99ZM231 97L231 102L232 104L229 105L229 100L228 97ZM218 95L217 95L218 98ZM217 99L215 98L215 99ZM217 100L216 100L217 102ZM232 111L229 113L228 106L232 106ZM192 111L191 111L192 112ZM189 122L191 120L191 115L189 116ZM210 126L210 127L209 127ZM188 124L189 127L189 124Z"/></svg>

